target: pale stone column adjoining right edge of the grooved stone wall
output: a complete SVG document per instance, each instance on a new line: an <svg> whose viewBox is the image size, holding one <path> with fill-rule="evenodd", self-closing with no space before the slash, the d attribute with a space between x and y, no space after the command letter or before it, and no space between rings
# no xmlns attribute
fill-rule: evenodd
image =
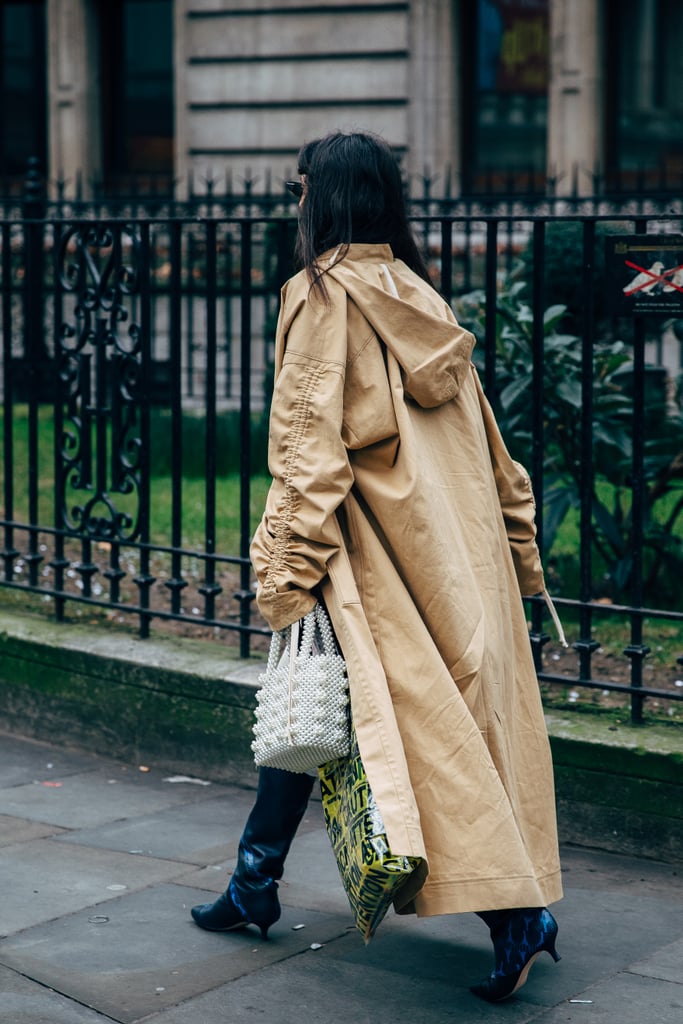
<svg viewBox="0 0 683 1024"><path fill-rule="evenodd" d="M457 7L452 0L411 4L408 170L438 175L438 191L447 170L456 182L460 173Z"/></svg>

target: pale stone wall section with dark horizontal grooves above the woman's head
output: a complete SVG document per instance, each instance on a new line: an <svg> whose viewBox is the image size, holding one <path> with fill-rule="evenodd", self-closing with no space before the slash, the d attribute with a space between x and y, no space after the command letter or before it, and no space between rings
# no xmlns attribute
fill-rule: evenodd
<svg viewBox="0 0 683 1024"><path fill-rule="evenodd" d="M310 9L305 10L306 7ZM306 139L409 139L411 4L176 3L176 177L296 174Z"/></svg>

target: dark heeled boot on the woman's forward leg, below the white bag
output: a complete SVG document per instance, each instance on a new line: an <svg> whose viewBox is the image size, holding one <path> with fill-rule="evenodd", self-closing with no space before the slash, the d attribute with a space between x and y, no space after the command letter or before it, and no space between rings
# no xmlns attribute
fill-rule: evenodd
<svg viewBox="0 0 683 1024"><path fill-rule="evenodd" d="M259 770L256 803L240 840L238 864L214 903L193 907L195 922L210 932L257 925L263 938L281 914L278 880L303 817L314 777L279 768Z"/></svg>

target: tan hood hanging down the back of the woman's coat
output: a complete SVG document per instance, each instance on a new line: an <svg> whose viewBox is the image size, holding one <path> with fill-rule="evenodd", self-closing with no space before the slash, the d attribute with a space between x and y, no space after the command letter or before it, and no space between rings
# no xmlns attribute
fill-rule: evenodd
<svg viewBox="0 0 683 1024"><path fill-rule="evenodd" d="M407 395L432 409L454 398L470 372L474 336L457 323L449 304L389 246L349 246L322 257L337 282L382 339L402 371Z"/></svg>

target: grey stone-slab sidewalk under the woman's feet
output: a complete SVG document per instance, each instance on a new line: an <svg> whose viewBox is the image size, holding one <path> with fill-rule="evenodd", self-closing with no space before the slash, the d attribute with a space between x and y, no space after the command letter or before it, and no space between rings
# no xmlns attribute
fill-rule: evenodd
<svg viewBox="0 0 683 1024"><path fill-rule="evenodd" d="M364 946L312 801L270 939L202 932L189 907L225 888L252 800L0 735L2 1024L683 1021L683 865L565 848L563 958L489 1006L473 914L390 913Z"/></svg>

